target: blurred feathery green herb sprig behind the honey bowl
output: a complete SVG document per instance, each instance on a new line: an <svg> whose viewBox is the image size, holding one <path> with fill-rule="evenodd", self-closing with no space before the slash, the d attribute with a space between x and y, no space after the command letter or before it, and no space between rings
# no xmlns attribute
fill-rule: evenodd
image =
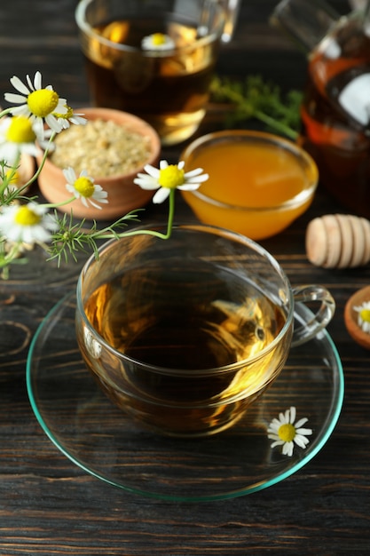
<svg viewBox="0 0 370 556"><path fill-rule="evenodd" d="M211 101L232 105L224 119L226 127L256 118L271 131L297 139L300 126L301 91L282 95L275 83L264 81L261 75L248 75L244 82L217 76L211 85Z"/></svg>

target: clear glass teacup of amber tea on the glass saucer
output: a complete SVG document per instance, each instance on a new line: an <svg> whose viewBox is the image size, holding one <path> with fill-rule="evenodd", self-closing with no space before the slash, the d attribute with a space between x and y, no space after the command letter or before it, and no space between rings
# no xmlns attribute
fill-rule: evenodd
<svg viewBox="0 0 370 556"><path fill-rule="evenodd" d="M83 267L83 359L107 396L154 432L221 432L279 376L290 347L327 325L334 299L317 285L292 289L243 235L204 225L175 226L169 240L137 234L147 229L107 242ZM295 301L312 300L318 312L295 322Z"/></svg>

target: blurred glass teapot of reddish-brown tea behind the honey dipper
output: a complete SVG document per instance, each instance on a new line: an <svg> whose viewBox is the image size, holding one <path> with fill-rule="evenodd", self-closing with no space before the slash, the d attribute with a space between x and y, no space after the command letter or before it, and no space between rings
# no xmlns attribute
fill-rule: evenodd
<svg viewBox="0 0 370 556"><path fill-rule="evenodd" d="M338 16L319 0L283 0L272 24L308 53L303 147L343 207L370 218L370 0Z"/></svg>

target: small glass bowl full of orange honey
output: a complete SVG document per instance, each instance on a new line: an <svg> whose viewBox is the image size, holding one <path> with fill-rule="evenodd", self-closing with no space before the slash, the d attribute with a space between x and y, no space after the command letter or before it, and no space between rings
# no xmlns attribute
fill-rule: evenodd
<svg viewBox="0 0 370 556"><path fill-rule="evenodd" d="M253 240L279 234L311 205L319 181L302 147L264 131L215 131L181 154L185 171L202 168L209 179L182 192L201 222Z"/></svg>

